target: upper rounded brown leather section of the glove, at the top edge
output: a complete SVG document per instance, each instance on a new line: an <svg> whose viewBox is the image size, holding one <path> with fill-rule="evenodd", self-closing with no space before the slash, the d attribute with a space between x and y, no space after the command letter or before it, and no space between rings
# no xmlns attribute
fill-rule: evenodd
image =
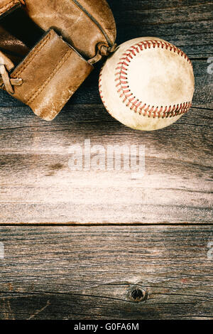
<svg viewBox="0 0 213 334"><path fill-rule="evenodd" d="M114 45L116 24L105 0L25 0L31 19L47 31L54 28L86 58L93 58L97 45Z"/></svg>

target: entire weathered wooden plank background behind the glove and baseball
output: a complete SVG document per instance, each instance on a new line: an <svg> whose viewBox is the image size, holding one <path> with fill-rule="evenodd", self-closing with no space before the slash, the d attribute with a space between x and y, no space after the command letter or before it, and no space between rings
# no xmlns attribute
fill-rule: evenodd
<svg viewBox="0 0 213 334"><path fill-rule="evenodd" d="M0 92L0 319L212 318L213 1L109 4L118 43L158 36L189 55L192 109L128 129L102 106L100 65L51 123ZM146 176L70 171L84 139L145 145Z"/></svg>

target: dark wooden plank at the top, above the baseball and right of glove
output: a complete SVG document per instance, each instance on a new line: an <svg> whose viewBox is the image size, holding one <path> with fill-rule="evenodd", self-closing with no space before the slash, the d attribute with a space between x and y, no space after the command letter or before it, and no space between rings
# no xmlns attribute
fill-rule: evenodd
<svg viewBox="0 0 213 334"><path fill-rule="evenodd" d="M212 1L109 0L117 42L156 36L182 48L190 58L212 55Z"/></svg>

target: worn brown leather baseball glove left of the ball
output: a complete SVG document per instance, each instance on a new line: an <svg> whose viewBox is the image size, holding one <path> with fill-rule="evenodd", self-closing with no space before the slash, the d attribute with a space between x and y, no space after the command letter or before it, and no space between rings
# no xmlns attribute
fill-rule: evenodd
<svg viewBox="0 0 213 334"><path fill-rule="evenodd" d="M0 87L48 121L115 48L105 0L0 0L0 25Z"/></svg>

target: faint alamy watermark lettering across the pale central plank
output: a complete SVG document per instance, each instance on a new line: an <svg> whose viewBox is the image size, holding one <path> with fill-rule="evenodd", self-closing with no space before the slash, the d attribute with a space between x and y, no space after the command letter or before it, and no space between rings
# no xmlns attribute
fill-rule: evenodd
<svg viewBox="0 0 213 334"><path fill-rule="evenodd" d="M68 153L71 171L130 171L132 178L145 174L144 145L93 145L90 139L71 145Z"/></svg>

